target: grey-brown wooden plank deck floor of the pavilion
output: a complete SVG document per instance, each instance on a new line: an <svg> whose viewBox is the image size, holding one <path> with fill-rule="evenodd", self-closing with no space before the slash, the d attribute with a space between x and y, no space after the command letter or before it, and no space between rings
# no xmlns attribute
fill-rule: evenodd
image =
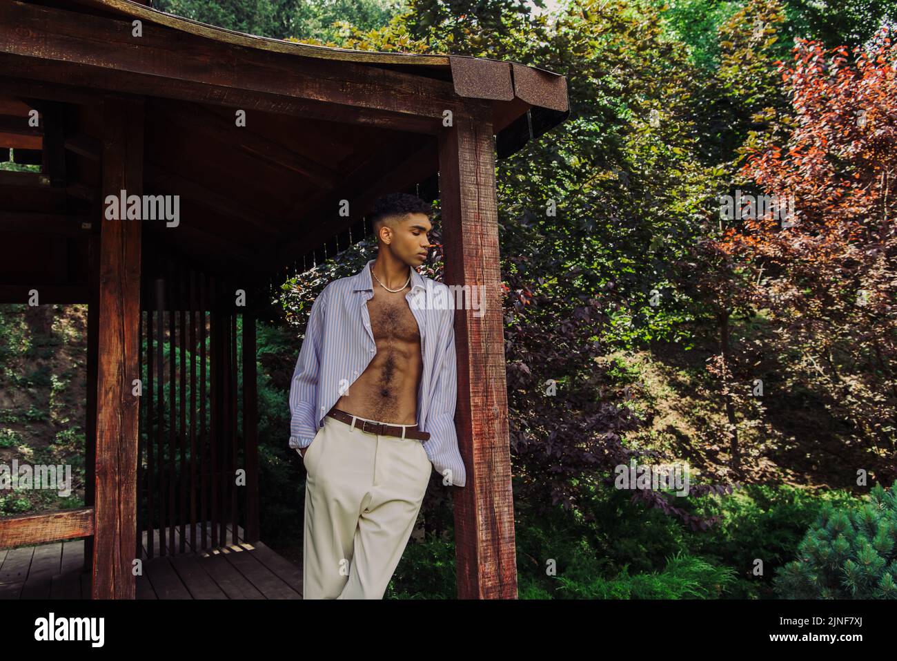
<svg viewBox="0 0 897 661"><path fill-rule="evenodd" d="M197 525L196 538L201 531ZM187 553L154 556L136 577L137 599L301 599L302 570L264 542L243 542L213 551L193 551L187 528ZM231 532L228 528L227 539ZM168 537L166 536L166 541ZM179 546L179 530L175 532ZM90 599L91 577L83 571L84 541L55 542L0 550L0 599Z"/></svg>

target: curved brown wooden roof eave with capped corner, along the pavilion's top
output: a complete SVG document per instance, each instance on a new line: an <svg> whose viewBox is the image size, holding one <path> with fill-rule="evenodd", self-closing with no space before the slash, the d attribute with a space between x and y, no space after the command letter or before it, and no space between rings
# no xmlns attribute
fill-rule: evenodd
<svg viewBox="0 0 897 661"><path fill-rule="evenodd" d="M81 10L83 20L71 21L71 10ZM54 31L54 12L64 12L67 23L87 26L80 43L65 33L70 30L66 25L58 28L64 32L62 38ZM4 23L13 29L0 33L0 74L24 75L33 81L58 83L60 71L65 70L67 83L109 93L161 95L430 134L438 132L444 110L462 110L465 100L477 99L492 104L500 158L556 126L569 108L562 75L485 57L383 53L274 40L205 25L129 0L70 0L65 10L8 0L0 13L7 14ZM130 40L119 44L121 48L110 49L109 43L102 48L109 40L121 41L121 19L158 24L164 31L144 31L139 51L125 48L135 46ZM129 33L129 24L126 30ZM189 38L170 42L169 35L176 31ZM180 48L181 57L176 60L168 56L170 43ZM201 50L203 44L212 48L214 59L191 60L187 56L197 54L184 52L188 43ZM322 87L319 72L303 76L307 67L292 66L289 58L259 60L248 56L253 52L314 58L322 65L351 68L326 68L338 75ZM202 50L198 55L210 54ZM158 65L160 61L164 66ZM230 64L223 70L224 81L216 78L219 72L207 70L203 62L208 61ZM258 84L260 75L267 76L267 85ZM282 84L283 79L289 79L289 84ZM524 116L526 130L518 122L517 128L502 135Z"/></svg>

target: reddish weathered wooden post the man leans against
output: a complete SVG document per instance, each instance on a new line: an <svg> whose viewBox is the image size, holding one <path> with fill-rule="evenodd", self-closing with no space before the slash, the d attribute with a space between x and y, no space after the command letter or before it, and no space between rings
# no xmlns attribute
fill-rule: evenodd
<svg viewBox="0 0 897 661"><path fill-rule="evenodd" d="M475 103L475 102L474 102ZM440 206L447 285L484 286L483 316L455 311L458 445L467 480L453 489L457 595L517 598L508 393L501 315L495 151L488 104L440 133Z"/></svg>

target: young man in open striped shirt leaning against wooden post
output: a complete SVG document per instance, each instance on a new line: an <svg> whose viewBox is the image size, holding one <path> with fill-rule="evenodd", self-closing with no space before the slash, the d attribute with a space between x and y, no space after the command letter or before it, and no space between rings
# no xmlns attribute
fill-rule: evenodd
<svg viewBox="0 0 897 661"><path fill-rule="evenodd" d="M414 195L379 198L377 259L311 306L290 389L290 447L308 472L305 599L381 599L432 469L466 483L452 297L414 269L430 248L430 214ZM433 305L440 288L448 304Z"/></svg>

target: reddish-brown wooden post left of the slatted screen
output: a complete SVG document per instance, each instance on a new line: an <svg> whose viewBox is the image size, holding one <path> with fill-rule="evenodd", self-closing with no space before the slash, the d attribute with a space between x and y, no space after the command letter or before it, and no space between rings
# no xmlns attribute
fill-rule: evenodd
<svg viewBox="0 0 897 661"><path fill-rule="evenodd" d="M143 194L143 101L103 101L100 198ZM140 314L139 220L100 215L97 449L93 530L94 599L134 599L137 378Z"/></svg>

